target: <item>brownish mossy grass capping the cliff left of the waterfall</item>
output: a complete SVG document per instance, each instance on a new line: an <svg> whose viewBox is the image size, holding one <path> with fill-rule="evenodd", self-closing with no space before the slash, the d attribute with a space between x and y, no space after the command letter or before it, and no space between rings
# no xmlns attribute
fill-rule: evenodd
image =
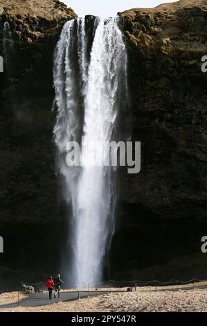
<svg viewBox="0 0 207 326"><path fill-rule="evenodd" d="M77 17L71 8L58 0L0 0L1 22L9 22L17 40L30 44L54 35L66 20Z"/></svg>

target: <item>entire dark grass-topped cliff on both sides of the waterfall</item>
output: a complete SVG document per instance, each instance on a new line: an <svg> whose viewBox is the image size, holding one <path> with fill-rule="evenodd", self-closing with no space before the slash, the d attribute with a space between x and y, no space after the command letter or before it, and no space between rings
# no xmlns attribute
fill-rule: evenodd
<svg viewBox="0 0 207 326"><path fill-rule="evenodd" d="M52 141L53 49L62 25L75 13L59 1L39 1L38 8L36 3L0 0L0 54L6 69L0 74L0 223L1 235L11 241L3 264L10 266L11 257L18 257L20 266L37 270L39 259L50 275L44 257L50 250L59 255L55 243L60 246L62 234L66 242ZM124 280L206 278L200 251L207 224L207 74L201 72L201 57L207 55L206 1L118 15L129 55L128 121L132 139L142 144L142 168L138 175L120 171L109 274ZM22 257L34 250L30 238L38 239L35 262ZM12 239L19 251L14 252ZM26 275L24 282L30 282Z"/></svg>

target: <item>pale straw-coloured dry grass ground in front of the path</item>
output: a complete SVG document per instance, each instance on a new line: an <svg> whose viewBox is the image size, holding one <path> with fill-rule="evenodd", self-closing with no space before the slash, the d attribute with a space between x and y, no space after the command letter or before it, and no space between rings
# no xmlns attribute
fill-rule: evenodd
<svg viewBox="0 0 207 326"><path fill-rule="evenodd" d="M17 292L2 293L0 312L207 312L207 289L188 289L185 286L181 289L172 286L142 287L133 292L112 292L74 302L59 302L39 307L21 307L23 298L26 298L26 295Z"/></svg>

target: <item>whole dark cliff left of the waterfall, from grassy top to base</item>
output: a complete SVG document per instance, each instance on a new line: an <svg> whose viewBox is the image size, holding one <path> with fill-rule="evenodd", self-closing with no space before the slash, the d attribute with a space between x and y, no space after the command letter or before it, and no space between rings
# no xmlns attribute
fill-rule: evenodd
<svg viewBox="0 0 207 326"><path fill-rule="evenodd" d="M74 17L56 0L0 0L1 289L47 278L51 255L60 271L67 228L52 139L53 51Z"/></svg>

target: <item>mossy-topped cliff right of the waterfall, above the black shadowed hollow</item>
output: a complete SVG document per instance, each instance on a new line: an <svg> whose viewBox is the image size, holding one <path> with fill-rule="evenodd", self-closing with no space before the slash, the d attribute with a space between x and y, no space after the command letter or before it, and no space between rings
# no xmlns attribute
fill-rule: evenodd
<svg viewBox="0 0 207 326"><path fill-rule="evenodd" d="M179 1L120 15L129 45L133 139L142 141L143 159L141 173L126 178L132 191L123 198L165 215L199 209L207 203L207 75L201 72L207 3Z"/></svg>

